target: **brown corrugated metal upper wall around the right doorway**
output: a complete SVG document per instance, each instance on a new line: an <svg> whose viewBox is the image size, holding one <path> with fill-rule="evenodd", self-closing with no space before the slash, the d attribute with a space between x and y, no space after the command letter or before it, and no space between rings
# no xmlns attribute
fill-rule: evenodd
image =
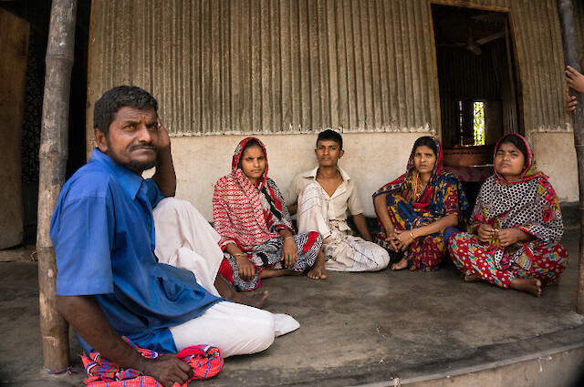
<svg viewBox="0 0 584 387"><path fill-rule="evenodd" d="M510 11L527 131L563 130L556 1L436 3ZM102 0L92 17L89 102L144 87L174 135L440 126L427 0Z"/></svg>

